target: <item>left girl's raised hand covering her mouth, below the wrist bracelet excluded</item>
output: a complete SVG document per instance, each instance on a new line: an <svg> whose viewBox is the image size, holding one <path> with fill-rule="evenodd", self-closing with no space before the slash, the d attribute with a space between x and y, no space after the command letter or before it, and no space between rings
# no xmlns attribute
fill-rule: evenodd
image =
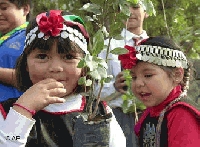
<svg viewBox="0 0 200 147"><path fill-rule="evenodd" d="M65 95L66 89L62 83L54 79L42 80L30 87L16 103L30 109L39 111L49 104L63 103L61 98Z"/></svg>

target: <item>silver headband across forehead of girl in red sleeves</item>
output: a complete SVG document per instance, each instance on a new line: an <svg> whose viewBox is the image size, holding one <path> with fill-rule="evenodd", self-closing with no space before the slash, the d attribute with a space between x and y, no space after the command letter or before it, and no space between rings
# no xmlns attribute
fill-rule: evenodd
<svg viewBox="0 0 200 147"><path fill-rule="evenodd" d="M170 67L188 68L186 56L182 51L160 46L139 45L135 47L138 60Z"/></svg>

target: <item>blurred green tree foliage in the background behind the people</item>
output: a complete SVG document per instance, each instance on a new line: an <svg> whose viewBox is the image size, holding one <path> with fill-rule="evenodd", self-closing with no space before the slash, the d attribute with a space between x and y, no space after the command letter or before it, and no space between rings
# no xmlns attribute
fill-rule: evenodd
<svg viewBox="0 0 200 147"><path fill-rule="evenodd" d="M71 11L83 18L91 16L92 11L86 12L80 8L86 3L97 4L102 12L107 13L108 19L113 16L111 6L123 3L125 0L32 0L32 16L48 9L63 9ZM150 36L166 35L173 38L190 58L200 59L200 1L199 0L151 0L156 10L156 16L150 16L145 20L144 29ZM163 1L163 4L162 4ZM105 6L107 5L107 6ZM164 18L164 12L166 20ZM88 20L85 19L87 22ZM104 20L109 23L109 20ZM88 24L91 22L87 22ZM96 28L95 28L96 27ZM89 27L90 34L98 29L93 24Z"/></svg>

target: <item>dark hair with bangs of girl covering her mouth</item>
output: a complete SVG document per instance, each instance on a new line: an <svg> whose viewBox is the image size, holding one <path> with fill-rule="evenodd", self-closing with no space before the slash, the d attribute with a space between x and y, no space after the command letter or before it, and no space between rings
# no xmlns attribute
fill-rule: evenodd
<svg viewBox="0 0 200 147"><path fill-rule="evenodd" d="M26 29L26 35L34 29L37 25L36 18L32 19L29 22L29 25L27 26ZM80 28L76 25L71 26L73 29L77 29L79 32L81 32ZM50 46L53 44L54 41L58 42L58 53L66 53L66 54L71 54L71 53L80 53L85 56L85 53L83 50L74 42L70 41L69 38L62 38L60 36L57 37L50 37L47 40L44 40L43 38L38 38L37 34L40 31L36 31L36 38L32 41L32 43L27 46L21 56L18 58L17 63L16 63L16 81L17 81L17 88L21 91L26 91L28 88L30 88L33 83L30 80L29 73L26 70L27 68L27 57L28 55L35 49L41 49L41 50L50 50ZM83 34L83 32L81 32ZM87 43L89 43L89 38L86 38ZM86 73L87 69L84 68L82 69L82 73ZM82 75L84 76L84 75ZM90 77L87 77L90 78ZM89 90L89 87L86 87L85 85L78 85L75 89L75 93L80 93L80 92L86 92Z"/></svg>

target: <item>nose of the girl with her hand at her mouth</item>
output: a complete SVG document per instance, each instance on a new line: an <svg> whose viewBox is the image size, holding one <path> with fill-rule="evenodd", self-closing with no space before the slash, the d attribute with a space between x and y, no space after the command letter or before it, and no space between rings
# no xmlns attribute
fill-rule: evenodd
<svg viewBox="0 0 200 147"><path fill-rule="evenodd" d="M50 72L61 72L63 71L63 63L59 59L51 59L49 64Z"/></svg>

